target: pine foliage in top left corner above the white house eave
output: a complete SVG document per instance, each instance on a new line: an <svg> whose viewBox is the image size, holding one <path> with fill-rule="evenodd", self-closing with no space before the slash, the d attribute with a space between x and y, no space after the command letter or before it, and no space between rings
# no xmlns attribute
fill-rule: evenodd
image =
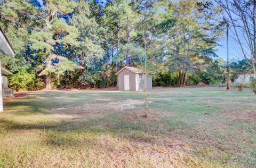
<svg viewBox="0 0 256 168"><path fill-rule="evenodd" d="M36 4L22 0L0 1L0 26L5 30L16 54L26 50L29 30L39 24Z"/></svg>

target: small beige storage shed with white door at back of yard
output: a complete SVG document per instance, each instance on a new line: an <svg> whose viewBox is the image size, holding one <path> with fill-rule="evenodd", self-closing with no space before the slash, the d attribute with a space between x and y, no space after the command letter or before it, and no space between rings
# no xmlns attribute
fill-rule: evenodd
<svg viewBox="0 0 256 168"><path fill-rule="evenodd" d="M147 72L147 89L152 89L152 74ZM145 73L140 69L130 66L124 66L117 75L118 90L143 91L145 88Z"/></svg>

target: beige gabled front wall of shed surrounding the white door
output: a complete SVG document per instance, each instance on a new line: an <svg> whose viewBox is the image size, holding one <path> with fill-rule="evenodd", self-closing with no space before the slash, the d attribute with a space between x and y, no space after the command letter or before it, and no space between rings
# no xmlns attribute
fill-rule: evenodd
<svg viewBox="0 0 256 168"><path fill-rule="evenodd" d="M124 69L122 72L118 74L118 89L124 90L124 75L129 74L129 81L130 81L130 90L136 90L136 82L135 82L135 73Z"/></svg>

